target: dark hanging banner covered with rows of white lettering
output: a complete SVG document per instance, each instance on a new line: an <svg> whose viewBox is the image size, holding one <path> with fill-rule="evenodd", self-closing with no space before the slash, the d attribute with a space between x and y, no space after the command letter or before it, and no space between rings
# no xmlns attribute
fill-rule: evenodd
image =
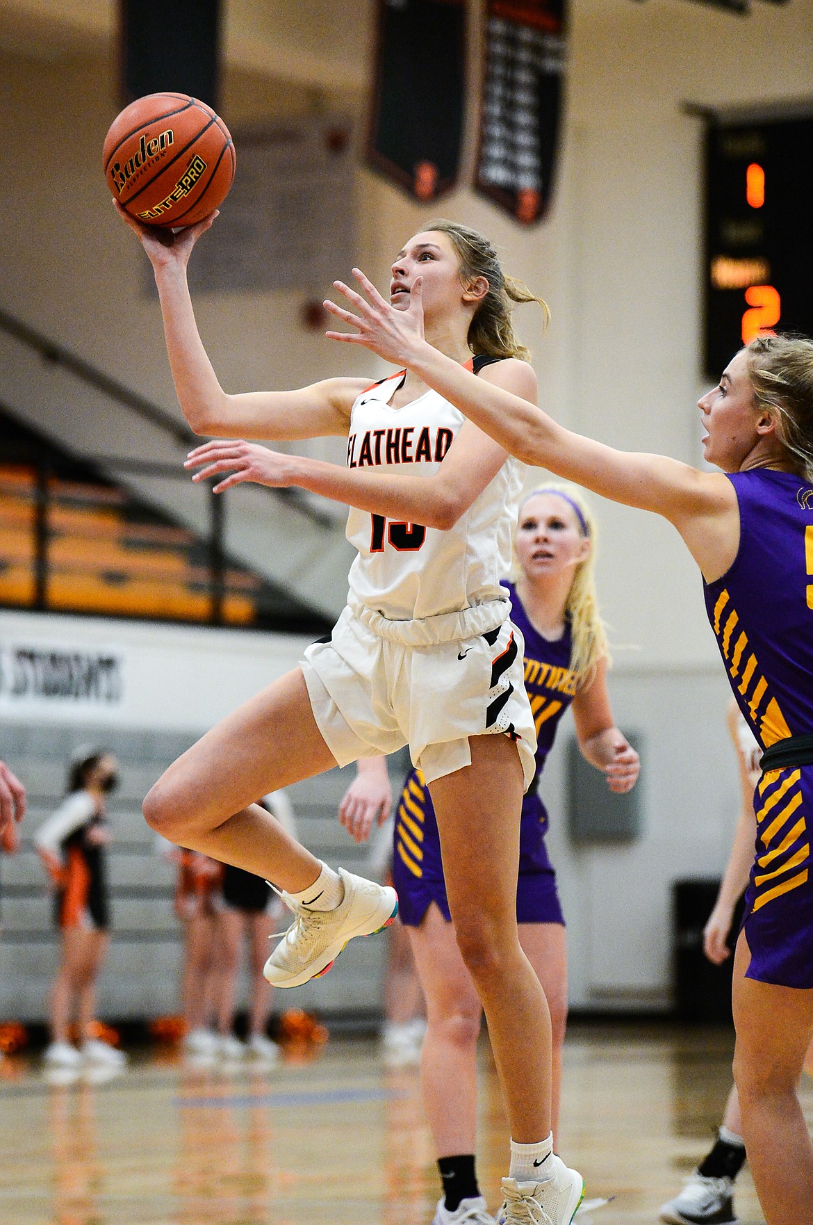
<svg viewBox="0 0 813 1225"><path fill-rule="evenodd" d="M517 221L552 196L564 75L566 0L489 0L476 190Z"/></svg>

